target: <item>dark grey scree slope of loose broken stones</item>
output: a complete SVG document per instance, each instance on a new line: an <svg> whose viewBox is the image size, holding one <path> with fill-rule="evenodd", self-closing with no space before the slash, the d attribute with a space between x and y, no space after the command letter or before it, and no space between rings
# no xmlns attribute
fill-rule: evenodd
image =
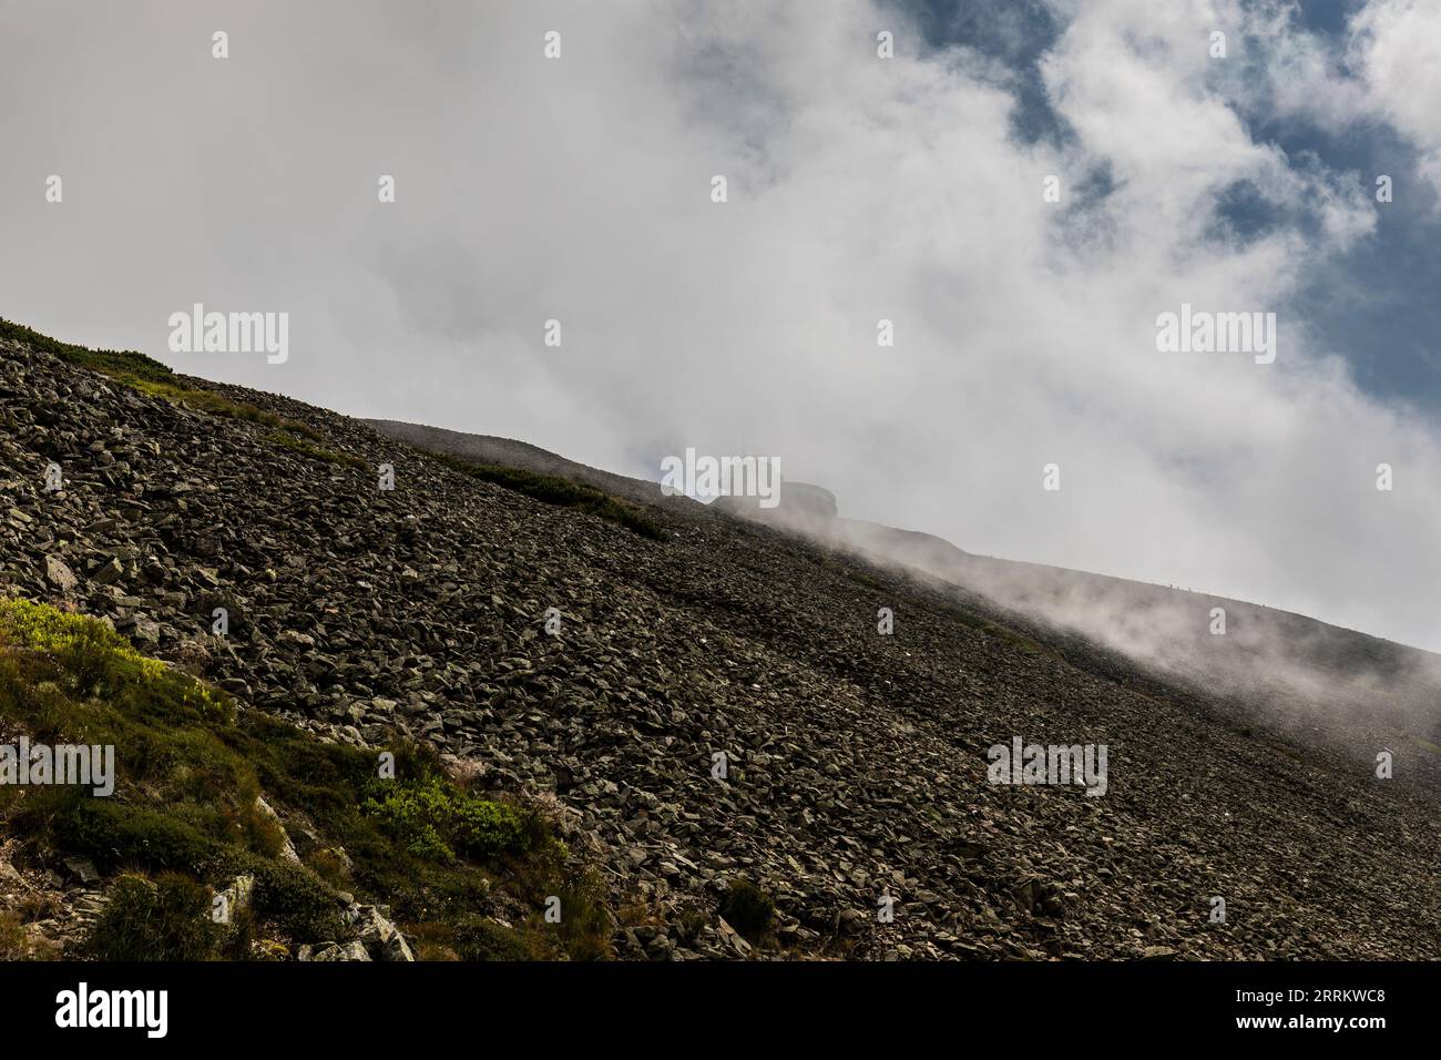
<svg viewBox="0 0 1441 1060"><path fill-rule="evenodd" d="M496 790L553 793L631 910L620 956L1441 955L1429 750L1393 747L1382 780L964 586L687 505L650 509L656 541L367 424L180 382L258 412L0 345L0 591L203 650L219 686L317 734L409 733ZM1013 737L1105 744L1105 795L989 783ZM736 878L777 907L751 942L719 914Z"/></svg>

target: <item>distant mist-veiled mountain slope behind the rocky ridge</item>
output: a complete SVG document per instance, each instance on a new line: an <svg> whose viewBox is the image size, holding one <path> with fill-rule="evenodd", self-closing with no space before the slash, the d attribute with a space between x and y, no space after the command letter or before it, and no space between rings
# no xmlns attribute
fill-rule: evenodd
<svg viewBox="0 0 1441 1060"><path fill-rule="evenodd" d="M367 421L428 451L592 483L637 503L744 516L833 552L940 580L938 591L1039 639L1091 672L1169 695L1225 704L1232 717L1303 740L1326 740L1362 760L1404 748L1408 772L1441 795L1441 656L1301 614L1242 600L1085 571L976 555L932 534L904 531L793 503L777 509L720 498L708 508L663 498L654 482L566 460L536 446L396 421ZM834 498L820 490L829 502ZM1218 609L1223 613L1218 624Z"/></svg>

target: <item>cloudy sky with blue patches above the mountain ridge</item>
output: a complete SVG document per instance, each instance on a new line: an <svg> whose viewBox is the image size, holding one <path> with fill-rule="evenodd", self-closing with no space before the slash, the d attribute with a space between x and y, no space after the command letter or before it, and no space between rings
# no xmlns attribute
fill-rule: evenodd
<svg viewBox="0 0 1441 1060"><path fill-rule="evenodd" d="M6 319L1441 650L1431 0L0 0L0 98Z"/></svg>

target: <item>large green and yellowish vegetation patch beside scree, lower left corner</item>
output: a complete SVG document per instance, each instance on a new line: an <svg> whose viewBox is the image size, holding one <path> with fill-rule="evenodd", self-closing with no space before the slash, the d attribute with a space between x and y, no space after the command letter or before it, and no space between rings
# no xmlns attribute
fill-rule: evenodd
<svg viewBox="0 0 1441 1060"><path fill-rule="evenodd" d="M435 940L432 956L610 956L601 887L533 809L473 793L418 744L392 748L395 779L382 779L376 751L244 708L92 619L0 599L0 728L115 747L108 798L0 786L16 864L82 854L127 874L92 953L197 959L249 956L252 937L326 942L343 936L346 890L389 904L405 930ZM303 864L281 857L287 836L262 793L291 821ZM241 874L255 878L244 930L197 924L212 891ZM552 894L561 924L543 920ZM477 926L494 901L526 910L523 922ZM19 945L16 927L0 923L0 949Z"/></svg>

